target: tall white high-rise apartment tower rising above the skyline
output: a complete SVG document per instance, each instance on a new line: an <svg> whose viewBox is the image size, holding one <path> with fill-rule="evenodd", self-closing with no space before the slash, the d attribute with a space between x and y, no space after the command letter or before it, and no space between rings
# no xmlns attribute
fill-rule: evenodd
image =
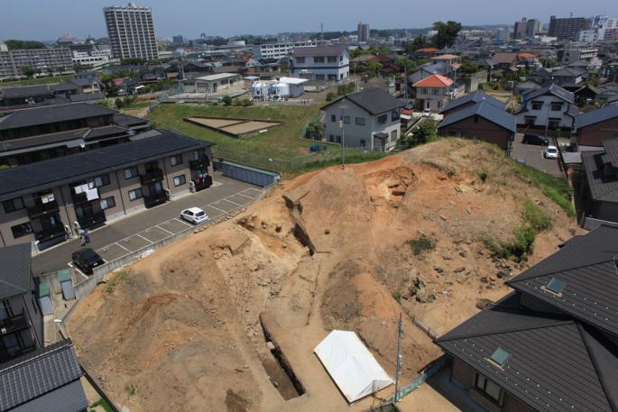
<svg viewBox="0 0 618 412"><path fill-rule="evenodd" d="M159 57L150 7L129 3L128 6L105 7L103 14L114 59Z"/></svg>

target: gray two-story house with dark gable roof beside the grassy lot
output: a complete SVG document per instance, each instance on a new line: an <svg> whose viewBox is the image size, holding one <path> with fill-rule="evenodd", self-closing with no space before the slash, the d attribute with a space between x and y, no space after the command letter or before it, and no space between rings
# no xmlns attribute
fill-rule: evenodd
<svg viewBox="0 0 618 412"><path fill-rule="evenodd" d="M391 151L401 137L401 100L372 88L343 96L322 107L328 142Z"/></svg>

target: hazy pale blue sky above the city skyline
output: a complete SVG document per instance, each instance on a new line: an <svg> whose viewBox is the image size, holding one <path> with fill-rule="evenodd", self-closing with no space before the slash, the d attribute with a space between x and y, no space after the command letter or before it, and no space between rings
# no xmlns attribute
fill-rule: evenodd
<svg viewBox="0 0 618 412"><path fill-rule="evenodd" d="M0 39L56 40L68 31L85 38L106 36L103 7L116 0L0 0ZM355 31L360 21L372 29L429 27L436 21L464 25L512 24L523 16L549 22L567 17L618 15L616 0L143 0L152 7L158 37L277 32Z"/></svg>

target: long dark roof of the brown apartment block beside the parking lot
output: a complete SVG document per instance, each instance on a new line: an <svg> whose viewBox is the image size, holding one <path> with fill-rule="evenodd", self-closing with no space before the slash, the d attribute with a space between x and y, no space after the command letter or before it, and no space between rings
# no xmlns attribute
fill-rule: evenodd
<svg viewBox="0 0 618 412"><path fill-rule="evenodd" d="M212 144L171 131L161 131L161 135L148 139L0 170L0 181L3 182L0 185L0 197L23 196Z"/></svg>

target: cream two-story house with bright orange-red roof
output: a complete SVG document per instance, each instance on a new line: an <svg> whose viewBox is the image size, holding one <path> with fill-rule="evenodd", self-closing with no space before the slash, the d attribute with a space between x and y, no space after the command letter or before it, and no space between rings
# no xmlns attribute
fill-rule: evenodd
<svg viewBox="0 0 618 412"><path fill-rule="evenodd" d="M463 92L464 87L456 88L453 80L442 75L432 75L412 85L414 105L420 110L429 109L438 112Z"/></svg>

